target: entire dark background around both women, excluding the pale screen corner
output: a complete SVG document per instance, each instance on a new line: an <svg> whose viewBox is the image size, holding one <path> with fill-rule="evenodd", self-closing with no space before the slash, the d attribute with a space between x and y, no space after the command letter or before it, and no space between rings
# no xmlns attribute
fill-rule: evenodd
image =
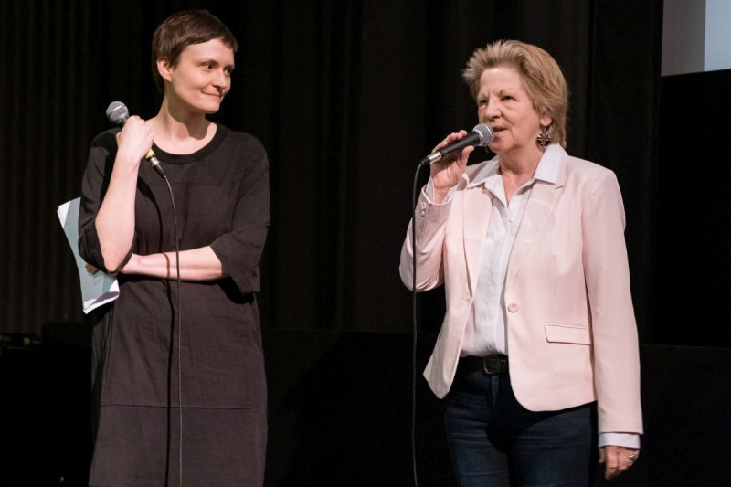
<svg viewBox="0 0 731 487"><path fill-rule="evenodd" d="M499 38L556 58L570 91L569 154L620 181L648 430L642 461L615 484L725 478L716 459L731 452L720 414L730 396L731 70L661 79L662 0L9 0L0 3L5 479L83 482L89 324L56 209L79 196L111 101L156 113L150 40L190 7L211 10L239 42L233 88L213 119L256 135L270 155L259 300L271 485L411 482L412 358L420 375L443 312L440 290L419 297L414 333L397 270L411 186L435 143L477 122L461 69ZM415 383L420 483L450 485L439 401Z"/></svg>

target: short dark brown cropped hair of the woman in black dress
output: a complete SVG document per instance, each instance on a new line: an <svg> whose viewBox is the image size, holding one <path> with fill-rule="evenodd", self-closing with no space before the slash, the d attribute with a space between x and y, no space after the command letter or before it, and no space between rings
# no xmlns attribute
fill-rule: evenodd
<svg viewBox="0 0 731 487"><path fill-rule="evenodd" d="M157 90L164 92L164 81L157 70L158 60L164 59L175 66L183 49L211 39L220 39L234 52L238 49L236 37L207 10L185 10L167 17L153 35L153 79Z"/></svg>

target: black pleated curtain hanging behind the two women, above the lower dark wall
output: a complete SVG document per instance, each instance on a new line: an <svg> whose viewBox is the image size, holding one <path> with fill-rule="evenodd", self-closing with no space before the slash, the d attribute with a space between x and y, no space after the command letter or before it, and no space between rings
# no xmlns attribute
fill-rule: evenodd
<svg viewBox="0 0 731 487"><path fill-rule="evenodd" d="M156 112L154 27L201 6L240 44L214 118L270 154L264 326L411 330L397 266L418 161L476 123L461 69L474 48L511 37L564 69L569 152L619 177L641 338L662 341L653 323L662 0L0 3L0 332L83 321L56 209L79 195L111 101ZM420 309L435 330L440 293Z"/></svg>

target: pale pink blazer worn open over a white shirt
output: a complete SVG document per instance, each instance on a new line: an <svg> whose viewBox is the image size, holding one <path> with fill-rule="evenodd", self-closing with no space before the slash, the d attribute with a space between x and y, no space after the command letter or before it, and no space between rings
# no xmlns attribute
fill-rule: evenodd
<svg viewBox="0 0 731 487"><path fill-rule="evenodd" d="M617 178L604 167L549 150L556 184L536 181L510 256L505 283L507 341L515 397L531 410L597 400L599 432L642 432L640 359ZM556 151L558 153L556 153ZM416 216L417 290L445 285L447 312L424 376L437 397L450 390L479 278L493 204L484 185L467 186L468 166L450 203L421 192ZM411 231L401 279L412 286Z"/></svg>

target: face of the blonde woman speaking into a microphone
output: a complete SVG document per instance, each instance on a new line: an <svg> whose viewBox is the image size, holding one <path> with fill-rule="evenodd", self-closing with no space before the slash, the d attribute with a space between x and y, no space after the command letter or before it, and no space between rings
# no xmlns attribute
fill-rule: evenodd
<svg viewBox="0 0 731 487"><path fill-rule="evenodd" d="M535 111L516 69L501 65L482 71L477 92L477 115L493 127L490 150L506 157L520 157L537 151L535 137L541 125L551 123L546 113Z"/></svg>

